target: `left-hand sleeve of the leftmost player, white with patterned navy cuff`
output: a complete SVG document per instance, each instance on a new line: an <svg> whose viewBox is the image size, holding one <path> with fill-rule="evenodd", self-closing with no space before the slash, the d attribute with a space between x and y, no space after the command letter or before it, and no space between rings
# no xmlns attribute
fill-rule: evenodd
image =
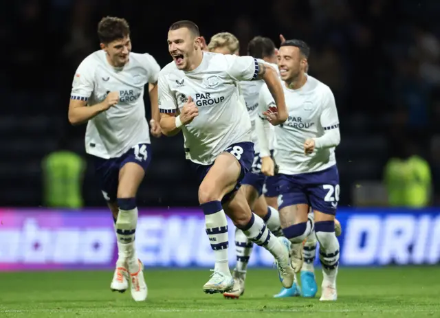
<svg viewBox="0 0 440 318"><path fill-rule="evenodd" d="M70 99L87 101L94 91L94 87L94 67L89 65L87 61L83 61L76 69Z"/></svg>

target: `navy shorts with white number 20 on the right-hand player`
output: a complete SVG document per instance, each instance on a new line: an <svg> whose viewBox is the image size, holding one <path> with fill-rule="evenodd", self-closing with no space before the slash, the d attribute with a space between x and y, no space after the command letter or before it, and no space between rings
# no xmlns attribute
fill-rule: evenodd
<svg viewBox="0 0 440 318"><path fill-rule="evenodd" d="M276 178L278 209L304 203L316 211L336 214L340 194L336 165L318 172L278 174Z"/></svg>

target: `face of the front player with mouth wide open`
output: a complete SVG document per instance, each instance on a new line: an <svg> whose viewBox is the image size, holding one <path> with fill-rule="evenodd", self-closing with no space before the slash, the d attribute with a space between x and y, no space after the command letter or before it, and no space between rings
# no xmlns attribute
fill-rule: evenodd
<svg viewBox="0 0 440 318"><path fill-rule="evenodd" d="M189 71L200 47L200 37L187 27L168 31L168 52L173 56L177 69Z"/></svg>

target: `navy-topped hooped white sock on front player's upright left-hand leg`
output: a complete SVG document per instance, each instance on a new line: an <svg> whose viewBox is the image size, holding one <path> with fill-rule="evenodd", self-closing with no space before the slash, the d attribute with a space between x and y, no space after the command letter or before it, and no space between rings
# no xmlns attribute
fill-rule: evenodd
<svg viewBox="0 0 440 318"><path fill-rule="evenodd" d="M214 270L231 275L228 261L228 220L226 220L221 202L203 203L201 208L205 214L206 234L208 234L211 248L214 251Z"/></svg>

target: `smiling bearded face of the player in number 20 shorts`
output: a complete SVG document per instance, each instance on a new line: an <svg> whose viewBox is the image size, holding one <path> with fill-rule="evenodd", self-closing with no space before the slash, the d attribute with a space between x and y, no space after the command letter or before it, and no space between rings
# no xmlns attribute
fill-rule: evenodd
<svg viewBox="0 0 440 318"><path fill-rule="evenodd" d="M305 73L307 58L295 46L283 46L278 52L278 68L281 79L289 82L298 78L300 73Z"/></svg>

